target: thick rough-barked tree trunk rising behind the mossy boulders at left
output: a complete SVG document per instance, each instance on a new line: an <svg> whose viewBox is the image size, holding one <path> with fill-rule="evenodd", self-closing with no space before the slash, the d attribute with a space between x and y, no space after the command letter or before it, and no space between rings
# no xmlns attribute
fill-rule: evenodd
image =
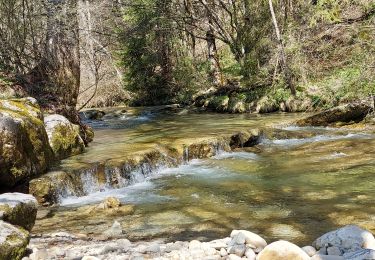
<svg viewBox="0 0 375 260"><path fill-rule="evenodd" d="M77 0L46 0L45 52L32 71L42 106L79 123L76 111L80 85Z"/></svg>

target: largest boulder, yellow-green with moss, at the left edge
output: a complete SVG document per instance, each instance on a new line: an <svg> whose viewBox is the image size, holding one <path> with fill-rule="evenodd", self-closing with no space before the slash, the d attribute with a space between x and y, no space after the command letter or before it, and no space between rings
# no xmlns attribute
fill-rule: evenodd
<svg viewBox="0 0 375 260"><path fill-rule="evenodd" d="M36 100L0 100L0 186L44 173L53 158Z"/></svg>

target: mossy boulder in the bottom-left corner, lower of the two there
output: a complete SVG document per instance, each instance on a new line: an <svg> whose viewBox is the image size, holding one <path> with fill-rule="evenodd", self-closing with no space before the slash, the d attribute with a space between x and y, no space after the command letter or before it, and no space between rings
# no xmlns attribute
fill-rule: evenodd
<svg viewBox="0 0 375 260"><path fill-rule="evenodd" d="M22 259L29 240L26 230L0 220L0 259Z"/></svg>

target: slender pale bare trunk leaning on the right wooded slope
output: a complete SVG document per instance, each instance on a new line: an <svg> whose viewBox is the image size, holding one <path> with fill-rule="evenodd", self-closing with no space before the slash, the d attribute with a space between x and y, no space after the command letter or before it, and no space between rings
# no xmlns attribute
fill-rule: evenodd
<svg viewBox="0 0 375 260"><path fill-rule="evenodd" d="M286 84L290 88L290 92L292 93L292 95L296 95L296 89L294 87L292 77L291 77L291 73L290 73L290 69L289 69L287 59L286 59L286 56L285 56L284 43L283 43L283 39L281 37L279 26L277 24L277 19L276 19L275 11L273 9L272 0L268 0L268 4L269 4L269 7L270 7L270 11L271 11L272 23L275 27L276 37L277 37L277 41L278 41L278 44L279 44L280 64L281 64L282 70L284 72Z"/></svg>

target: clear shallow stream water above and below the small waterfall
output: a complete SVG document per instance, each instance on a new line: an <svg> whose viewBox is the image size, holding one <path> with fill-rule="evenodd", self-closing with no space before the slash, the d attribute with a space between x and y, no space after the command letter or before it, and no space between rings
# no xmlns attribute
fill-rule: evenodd
<svg viewBox="0 0 375 260"><path fill-rule="evenodd" d="M155 116L133 128L98 131L88 153L63 165L244 127L283 128L295 118L282 114ZM118 220L125 236L133 240L214 239L232 229L248 229L268 240L304 245L345 224L375 231L375 140L371 133L284 127L284 132L271 136L247 151L161 169L131 187L67 198L48 218L37 221L34 232L97 235ZM134 213L85 215L77 208L108 196L135 205Z"/></svg>

